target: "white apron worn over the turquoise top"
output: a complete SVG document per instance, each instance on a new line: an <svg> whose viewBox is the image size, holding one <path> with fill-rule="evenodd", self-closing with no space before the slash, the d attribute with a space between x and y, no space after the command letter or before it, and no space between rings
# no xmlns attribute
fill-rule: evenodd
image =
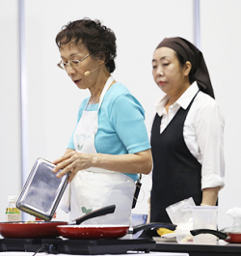
<svg viewBox="0 0 241 256"><path fill-rule="evenodd" d="M112 76L108 78L99 99L98 110L113 80ZM78 153L97 154L94 137L98 129L98 110L83 111L73 137L74 148ZM134 181L128 176L91 167L78 171L67 185L61 208L66 213L70 211L70 220L73 220L96 209L116 205L115 213L86 220L83 224L130 225L134 191Z"/></svg>

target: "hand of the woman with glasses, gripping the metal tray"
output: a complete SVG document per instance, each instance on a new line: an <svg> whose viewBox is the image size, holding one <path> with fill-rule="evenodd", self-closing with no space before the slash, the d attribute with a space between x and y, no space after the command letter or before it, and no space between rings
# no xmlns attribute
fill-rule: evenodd
<svg viewBox="0 0 241 256"><path fill-rule="evenodd" d="M53 163L56 164L56 167L53 169L54 173L57 173L62 169L56 175L58 178L61 178L70 172L70 176L68 178L68 183L70 183L78 171L88 169L92 166L92 155L77 153L74 150L68 149L64 156L54 160Z"/></svg>

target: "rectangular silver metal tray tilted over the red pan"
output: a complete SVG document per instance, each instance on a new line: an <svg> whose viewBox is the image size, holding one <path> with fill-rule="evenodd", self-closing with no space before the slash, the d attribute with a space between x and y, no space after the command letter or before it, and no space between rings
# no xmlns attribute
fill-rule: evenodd
<svg viewBox="0 0 241 256"><path fill-rule="evenodd" d="M16 201L16 207L43 220L51 220L67 187L68 173L57 178L56 165L38 158Z"/></svg>

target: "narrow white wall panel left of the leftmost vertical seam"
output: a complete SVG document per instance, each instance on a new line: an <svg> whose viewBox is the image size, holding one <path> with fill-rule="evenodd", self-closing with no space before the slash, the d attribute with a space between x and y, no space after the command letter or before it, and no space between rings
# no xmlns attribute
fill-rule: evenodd
<svg viewBox="0 0 241 256"><path fill-rule="evenodd" d="M0 0L0 221L21 189L17 1Z"/></svg>

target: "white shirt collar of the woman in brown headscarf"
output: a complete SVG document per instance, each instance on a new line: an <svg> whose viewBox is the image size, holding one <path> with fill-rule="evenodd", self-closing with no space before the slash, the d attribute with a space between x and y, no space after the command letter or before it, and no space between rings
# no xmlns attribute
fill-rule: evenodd
<svg viewBox="0 0 241 256"><path fill-rule="evenodd" d="M183 109L186 109L189 105L189 103L191 102L191 100L193 100L193 98L195 97L195 95L198 93L199 91L199 86L197 84L197 82L194 82L193 84L191 84L187 90L174 102L173 106L180 106ZM166 102L168 100L168 96L165 95L163 96L160 100L158 100L155 104L155 108L156 108L156 112L159 116L162 116L163 113L165 112L165 105Z"/></svg>

